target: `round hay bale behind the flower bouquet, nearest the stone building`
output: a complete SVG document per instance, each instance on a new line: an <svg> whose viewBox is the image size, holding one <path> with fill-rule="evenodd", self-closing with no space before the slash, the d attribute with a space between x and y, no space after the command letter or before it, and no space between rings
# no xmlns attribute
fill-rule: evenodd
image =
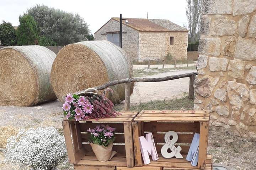
<svg viewBox="0 0 256 170"><path fill-rule="evenodd" d="M58 99L108 81L133 77L132 62L124 51L109 41L83 41L63 47L51 72L53 90ZM111 86L114 103L124 100L125 84ZM131 93L133 85L131 87Z"/></svg>

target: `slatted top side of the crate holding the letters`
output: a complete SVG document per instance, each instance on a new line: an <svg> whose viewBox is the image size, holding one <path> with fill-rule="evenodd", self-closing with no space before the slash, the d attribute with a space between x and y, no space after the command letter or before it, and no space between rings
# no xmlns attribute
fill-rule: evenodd
<svg viewBox="0 0 256 170"><path fill-rule="evenodd" d="M209 111L142 111L134 121L209 121Z"/></svg>

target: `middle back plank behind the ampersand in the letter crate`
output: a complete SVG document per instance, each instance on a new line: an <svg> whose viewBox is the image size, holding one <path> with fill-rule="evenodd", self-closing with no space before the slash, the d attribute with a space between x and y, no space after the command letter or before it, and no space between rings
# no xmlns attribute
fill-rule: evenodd
<svg viewBox="0 0 256 170"><path fill-rule="evenodd" d="M157 134L153 132L153 138L155 143L165 143L164 136L165 134ZM178 140L176 143L191 143L193 137L194 134L178 134Z"/></svg>

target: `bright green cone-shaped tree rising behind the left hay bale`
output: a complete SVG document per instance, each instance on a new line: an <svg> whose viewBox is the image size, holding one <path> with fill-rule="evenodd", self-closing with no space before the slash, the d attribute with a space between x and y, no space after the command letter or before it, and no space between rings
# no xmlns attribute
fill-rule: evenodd
<svg viewBox="0 0 256 170"><path fill-rule="evenodd" d="M17 44L18 45L37 45L38 44L38 28L37 23L31 15L24 14L19 17L20 25L17 28Z"/></svg>

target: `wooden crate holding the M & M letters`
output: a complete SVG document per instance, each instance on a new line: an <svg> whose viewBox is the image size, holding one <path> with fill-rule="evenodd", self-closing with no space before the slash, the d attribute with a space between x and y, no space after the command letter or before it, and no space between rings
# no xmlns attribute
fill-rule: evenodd
<svg viewBox="0 0 256 170"><path fill-rule="evenodd" d="M133 120L133 141L135 166L143 166L139 147L139 136L152 132L159 160L144 166L159 166L172 169L206 169L209 111L142 111ZM178 133L176 146L182 148L183 159L166 159L161 155L165 144L164 135L168 131ZM194 167L185 158L194 133L200 134L198 166ZM208 170L208 169L207 169Z"/></svg>

